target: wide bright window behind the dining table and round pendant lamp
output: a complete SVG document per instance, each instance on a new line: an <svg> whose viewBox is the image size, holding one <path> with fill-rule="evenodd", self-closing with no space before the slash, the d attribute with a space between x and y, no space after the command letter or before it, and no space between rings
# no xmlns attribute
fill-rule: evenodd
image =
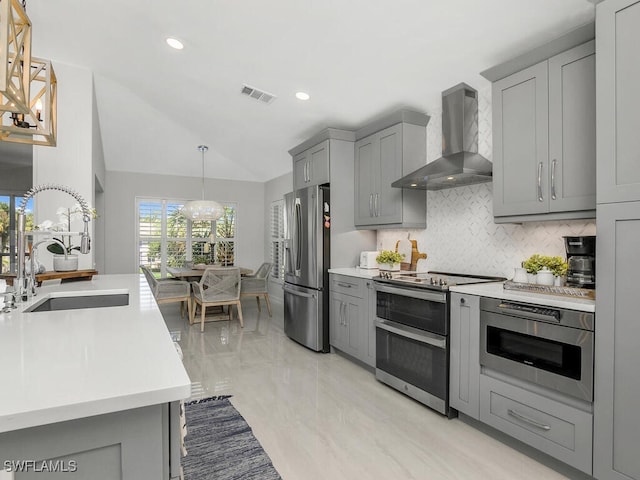
<svg viewBox="0 0 640 480"><path fill-rule="evenodd" d="M138 265L147 265L161 277L167 267L187 262L233 265L235 262L236 205L223 204L217 222L191 222L180 212L184 202L138 198Z"/></svg>

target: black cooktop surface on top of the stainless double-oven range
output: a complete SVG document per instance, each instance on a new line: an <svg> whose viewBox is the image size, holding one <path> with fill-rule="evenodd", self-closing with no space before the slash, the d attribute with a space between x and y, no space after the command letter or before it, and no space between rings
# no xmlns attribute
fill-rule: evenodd
<svg viewBox="0 0 640 480"><path fill-rule="evenodd" d="M410 272L405 270L399 272L380 271L380 276L374 277L374 280L395 285L447 291L449 287L454 285L502 282L506 278L448 272Z"/></svg>

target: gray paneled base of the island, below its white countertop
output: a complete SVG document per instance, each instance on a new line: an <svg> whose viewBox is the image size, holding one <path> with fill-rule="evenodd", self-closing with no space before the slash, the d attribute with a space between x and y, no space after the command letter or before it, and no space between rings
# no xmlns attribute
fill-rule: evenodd
<svg viewBox="0 0 640 480"><path fill-rule="evenodd" d="M179 437L177 431L169 434L169 410L153 405L1 433L0 468L26 460L40 466L40 471L16 471L10 477L15 480L177 479ZM67 473L43 473L43 462Z"/></svg>

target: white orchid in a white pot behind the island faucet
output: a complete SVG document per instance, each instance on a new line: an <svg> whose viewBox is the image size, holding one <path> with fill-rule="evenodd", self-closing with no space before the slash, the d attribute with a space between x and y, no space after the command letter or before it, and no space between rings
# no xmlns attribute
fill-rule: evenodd
<svg viewBox="0 0 640 480"><path fill-rule="evenodd" d="M96 209L91 208L92 218L97 217ZM58 223L45 220L38 225L39 230L51 230L52 232L70 232L73 220L82 220L82 207L76 203L73 207L60 207L56 210ZM47 250L53 253L53 269L56 272L72 272L78 269L78 255L72 253L74 250L80 251L79 245L73 245L72 235L58 235L53 237L55 243L47 245ZM64 245L64 247L62 246Z"/></svg>

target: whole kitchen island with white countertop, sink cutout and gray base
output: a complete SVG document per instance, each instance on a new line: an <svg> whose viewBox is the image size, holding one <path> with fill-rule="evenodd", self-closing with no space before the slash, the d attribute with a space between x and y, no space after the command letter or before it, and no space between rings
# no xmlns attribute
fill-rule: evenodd
<svg viewBox="0 0 640 480"><path fill-rule="evenodd" d="M123 293L128 305L25 312L47 297ZM0 468L62 459L73 478L95 478L97 465L108 478L175 477L190 380L144 277L45 285L17 306L0 313Z"/></svg>

